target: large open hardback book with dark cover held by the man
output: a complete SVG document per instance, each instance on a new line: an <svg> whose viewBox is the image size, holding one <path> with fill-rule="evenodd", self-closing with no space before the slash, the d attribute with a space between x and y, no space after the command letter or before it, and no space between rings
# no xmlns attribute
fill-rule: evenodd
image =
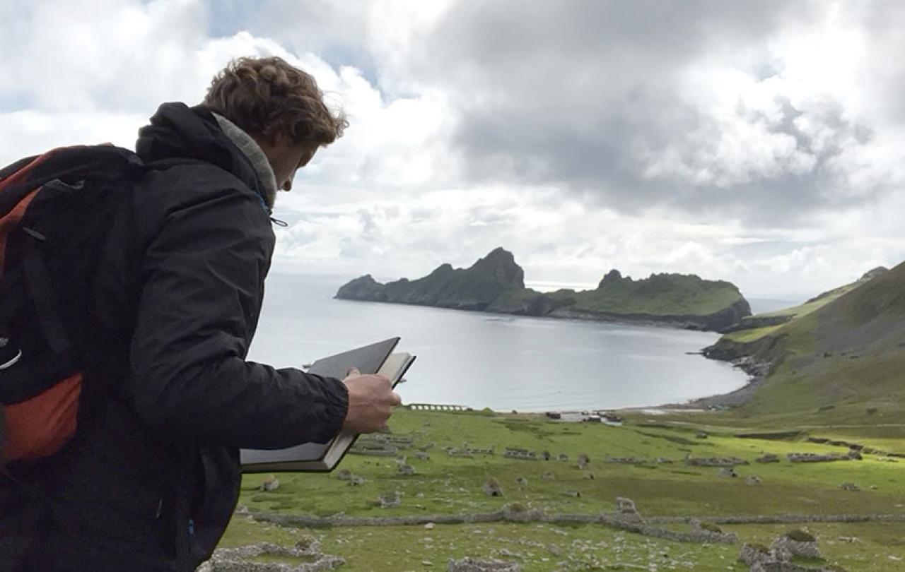
<svg viewBox="0 0 905 572"><path fill-rule="evenodd" d="M396 352L399 338L390 338L348 352L338 353L315 361L309 373L342 380L348 370L356 368L362 374L376 373L399 383L412 365L414 355ZM348 452L357 433L340 432L328 443L303 443L285 449L242 449L240 458L243 473L332 471Z"/></svg>

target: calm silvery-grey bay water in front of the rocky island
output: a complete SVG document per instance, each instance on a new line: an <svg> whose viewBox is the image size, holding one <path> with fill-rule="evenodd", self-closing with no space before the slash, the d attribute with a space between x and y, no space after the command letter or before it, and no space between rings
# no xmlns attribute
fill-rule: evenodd
<svg viewBox="0 0 905 572"><path fill-rule="evenodd" d="M399 336L417 356L404 403L496 411L655 407L748 381L697 354L718 333L334 299L345 281L271 273L249 360L301 367Z"/></svg>

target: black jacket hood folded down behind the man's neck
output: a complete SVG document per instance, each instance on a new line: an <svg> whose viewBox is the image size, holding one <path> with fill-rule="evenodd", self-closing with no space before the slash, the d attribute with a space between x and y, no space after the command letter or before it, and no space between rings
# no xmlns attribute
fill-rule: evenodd
<svg viewBox="0 0 905 572"><path fill-rule="evenodd" d="M195 159L215 164L257 192L262 202L266 198L251 161L224 135L214 115L203 106L161 105L151 117L150 125L138 130L135 152L148 163Z"/></svg>

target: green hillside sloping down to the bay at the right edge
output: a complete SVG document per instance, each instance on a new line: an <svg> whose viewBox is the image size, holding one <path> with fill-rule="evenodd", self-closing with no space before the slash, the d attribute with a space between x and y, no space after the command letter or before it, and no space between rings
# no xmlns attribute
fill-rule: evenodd
<svg viewBox="0 0 905 572"><path fill-rule="evenodd" d="M771 332L748 341L733 333L715 346L723 357L750 356L772 364L763 386L741 410L772 417L794 414L802 424L900 421L905 411L905 264L809 305Z"/></svg>

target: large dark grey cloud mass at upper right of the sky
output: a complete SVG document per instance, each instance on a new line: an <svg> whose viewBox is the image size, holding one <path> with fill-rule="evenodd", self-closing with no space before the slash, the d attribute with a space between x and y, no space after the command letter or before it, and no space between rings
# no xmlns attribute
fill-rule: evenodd
<svg viewBox="0 0 905 572"><path fill-rule="evenodd" d="M832 100L798 109L783 97L778 117L739 104L727 125L699 105L688 72L716 61L756 81L775 76L770 42L825 6L462 2L425 36L411 73L451 94L461 114L453 143L472 182L552 184L623 211L669 204L777 220L853 201L831 192L844 173L830 165L868 142L870 127ZM700 81L701 93L712 89ZM830 135L814 142L795 121L805 113ZM723 156L735 124L757 128L742 141L751 153Z"/></svg>

